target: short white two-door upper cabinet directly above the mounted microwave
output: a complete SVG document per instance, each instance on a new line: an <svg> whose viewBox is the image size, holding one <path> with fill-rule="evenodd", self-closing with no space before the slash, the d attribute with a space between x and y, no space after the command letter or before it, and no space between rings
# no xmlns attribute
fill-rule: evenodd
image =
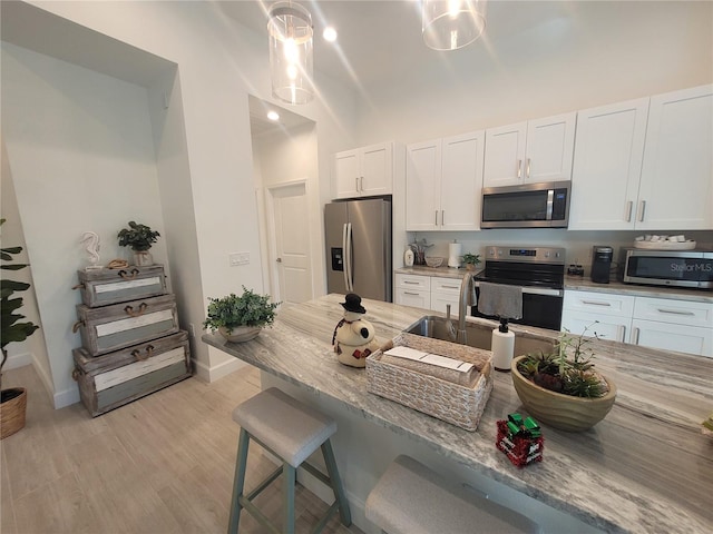
<svg viewBox="0 0 713 534"><path fill-rule="evenodd" d="M484 186L517 186L572 178L577 113L486 130Z"/></svg>

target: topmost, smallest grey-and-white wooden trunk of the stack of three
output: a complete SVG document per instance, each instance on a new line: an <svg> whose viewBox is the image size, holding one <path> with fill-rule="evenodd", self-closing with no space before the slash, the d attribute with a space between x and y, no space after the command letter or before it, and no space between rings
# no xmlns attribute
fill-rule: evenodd
<svg viewBox="0 0 713 534"><path fill-rule="evenodd" d="M77 276L81 301L90 308L166 293L166 277L160 265L130 266L118 270L78 270Z"/></svg>

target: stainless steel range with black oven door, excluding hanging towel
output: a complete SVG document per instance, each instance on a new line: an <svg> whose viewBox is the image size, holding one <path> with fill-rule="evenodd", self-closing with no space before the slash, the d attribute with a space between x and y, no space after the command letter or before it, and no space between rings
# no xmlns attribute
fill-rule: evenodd
<svg viewBox="0 0 713 534"><path fill-rule="evenodd" d="M564 248L488 247L485 269L476 279L522 288L522 317L510 323L559 330L565 295ZM479 313L477 305L471 315L496 318Z"/></svg>

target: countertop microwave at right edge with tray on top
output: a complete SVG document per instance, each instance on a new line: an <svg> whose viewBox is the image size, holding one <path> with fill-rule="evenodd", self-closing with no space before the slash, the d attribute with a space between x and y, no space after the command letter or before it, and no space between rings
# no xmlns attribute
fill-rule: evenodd
<svg viewBox="0 0 713 534"><path fill-rule="evenodd" d="M622 248L619 279L625 284L713 288L713 250Z"/></svg>

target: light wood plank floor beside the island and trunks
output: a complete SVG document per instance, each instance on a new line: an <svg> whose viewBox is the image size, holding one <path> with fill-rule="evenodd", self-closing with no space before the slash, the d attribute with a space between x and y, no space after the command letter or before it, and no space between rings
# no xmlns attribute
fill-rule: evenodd
<svg viewBox="0 0 713 534"><path fill-rule="evenodd" d="M7 370L3 387L28 389L27 426L0 442L0 532L224 533L238 427L231 413L260 390L245 367L213 384L196 378L91 418L81 404L55 411L31 366ZM246 490L274 465L251 446ZM280 524L280 483L255 501ZM326 504L297 487L297 532ZM247 513L241 534L264 532ZM339 523L324 530L361 533Z"/></svg>

